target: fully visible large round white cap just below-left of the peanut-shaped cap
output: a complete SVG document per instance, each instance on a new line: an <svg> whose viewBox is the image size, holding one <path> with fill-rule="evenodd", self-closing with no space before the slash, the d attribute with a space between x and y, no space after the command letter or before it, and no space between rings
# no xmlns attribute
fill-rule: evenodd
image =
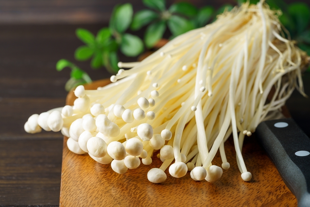
<svg viewBox="0 0 310 207"><path fill-rule="evenodd" d="M104 157L107 154L107 144L100 137L91 137L86 146L89 153L94 157Z"/></svg>

